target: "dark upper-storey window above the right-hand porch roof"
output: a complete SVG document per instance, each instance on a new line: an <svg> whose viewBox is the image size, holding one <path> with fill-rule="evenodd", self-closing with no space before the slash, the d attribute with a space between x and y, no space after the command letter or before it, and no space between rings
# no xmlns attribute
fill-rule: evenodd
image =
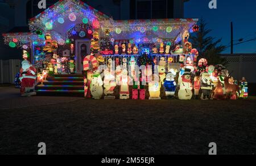
<svg viewBox="0 0 256 166"><path fill-rule="evenodd" d="M174 0L131 0L131 19L174 18Z"/></svg>

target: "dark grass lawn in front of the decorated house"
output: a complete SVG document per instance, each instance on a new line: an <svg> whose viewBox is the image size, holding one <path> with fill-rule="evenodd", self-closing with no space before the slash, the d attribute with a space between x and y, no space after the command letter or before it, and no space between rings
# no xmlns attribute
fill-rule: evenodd
<svg viewBox="0 0 256 166"><path fill-rule="evenodd" d="M249 100L77 100L0 110L0 154L256 154Z"/></svg>

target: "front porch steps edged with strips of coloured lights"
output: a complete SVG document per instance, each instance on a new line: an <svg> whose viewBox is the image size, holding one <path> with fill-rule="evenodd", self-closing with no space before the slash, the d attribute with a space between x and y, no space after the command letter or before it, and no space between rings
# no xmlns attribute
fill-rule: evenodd
<svg viewBox="0 0 256 166"><path fill-rule="evenodd" d="M54 75L46 78L43 85L35 87L37 95L43 96L84 96L82 75Z"/></svg>

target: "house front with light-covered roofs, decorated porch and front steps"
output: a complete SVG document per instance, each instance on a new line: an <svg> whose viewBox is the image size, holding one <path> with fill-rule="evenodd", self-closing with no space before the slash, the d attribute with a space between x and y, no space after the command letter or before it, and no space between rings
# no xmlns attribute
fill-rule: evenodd
<svg viewBox="0 0 256 166"><path fill-rule="evenodd" d="M175 53L183 53L183 49L176 46L188 40L196 23L197 19L114 20L83 1L60 0L29 20L29 32L2 36L6 45L25 51L23 58L34 64L39 74L47 71L51 76L45 86L37 87L38 92L84 93L82 73L95 65L94 57L106 64L110 59L117 62L117 57L127 56L130 61L133 54L137 61L146 51L154 54L154 61L165 56L166 61L173 59L170 63L179 65ZM93 56L86 63L90 54ZM102 58L102 54L107 55Z"/></svg>

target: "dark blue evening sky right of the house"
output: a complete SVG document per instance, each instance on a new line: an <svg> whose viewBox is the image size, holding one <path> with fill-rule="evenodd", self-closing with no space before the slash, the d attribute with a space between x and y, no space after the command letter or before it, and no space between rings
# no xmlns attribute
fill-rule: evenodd
<svg viewBox="0 0 256 166"><path fill-rule="evenodd" d="M209 9L210 0L190 0L185 3L185 18L203 18L212 29L210 36L230 45L230 22L234 26L234 43L238 39L256 38L255 0L217 0L217 9ZM224 53L230 53L230 47ZM256 53L256 40L234 46L234 53Z"/></svg>

